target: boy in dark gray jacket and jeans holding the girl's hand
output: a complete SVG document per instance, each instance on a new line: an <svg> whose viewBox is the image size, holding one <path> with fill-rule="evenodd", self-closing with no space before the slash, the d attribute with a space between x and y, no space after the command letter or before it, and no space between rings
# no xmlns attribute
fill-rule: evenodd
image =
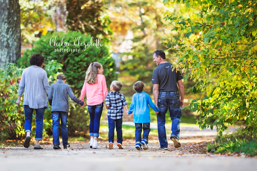
<svg viewBox="0 0 257 171"><path fill-rule="evenodd" d="M70 85L65 84L66 76L63 74L59 74L56 78L56 83L51 84L49 93L48 93L48 101L52 106L52 119L53 119L53 149L61 149L60 140L59 140L59 123L61 120L61 128L62 128L62 145L64 149L70 147L70 143L68 143L68 129L67 129L67 120L68 120L68 112L69 112L69 103L68 96L75 101L77 104L80 104L82 108L84 108L85 103L78 99L74 93L72 92Z"/></svg>

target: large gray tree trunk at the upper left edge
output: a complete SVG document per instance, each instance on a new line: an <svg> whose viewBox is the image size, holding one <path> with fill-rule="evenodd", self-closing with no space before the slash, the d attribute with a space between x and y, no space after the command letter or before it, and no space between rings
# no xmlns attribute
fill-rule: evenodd
<svg viewBox="0 0 257 171"><path fill-rule="evenodd" d="M20 57L19 0L0 0L0 67Z"/></svg>

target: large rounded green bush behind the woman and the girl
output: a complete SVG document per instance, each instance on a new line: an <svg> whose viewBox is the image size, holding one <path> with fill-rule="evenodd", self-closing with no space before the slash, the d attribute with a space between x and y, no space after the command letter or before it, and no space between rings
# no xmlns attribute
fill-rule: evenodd
<svg viewBox="0 0 257 171"><path fill-rule="evenodd" d="M62 39L64 38L64 42L70 43L70 46L62 47L62 46L50 46L51 38L54 39L56 36L57 43L61 43ZM108 49L107 42L102 42L100 40L99 48L95 46L74 46L74 41L76 37L81 37L81 42L88 42L91 41L91 36L82 34L77 31L69 31L67 33L63 32L54 32L48 33L45 36L42 36L39 41L34 44L32 50L28 50L24 53L24 56L20 58L17 63L20 67L28 67L29 66L29 58L34 53L42 54L46 60L45 65L51 65L53 63L52 60L55 60L57 63L61 63L62 67L58 69L56 72L62 72L67 76L67 84L69 84L72 88L74 94L79 98L80 92L83 87L86 70L90 63L92 62L100 62L103 65L107 87L109 87L110 83L117 79L116 71L116 64L115 60L110 56L110 52ZM93 38L94 43L95 40L98 38ZM76 42L77 44L77 42ZM53 42L51 42L53 45ZM85 48L85 49L84 49ZM59 51L57 51L57 49ZM60 51L61 49L61 51ZM70 52L70 50L75 49L74 52ZM77 49L77 52L76 52ZM83 51L84 49L84 51ZM64 51L65 50L65 51ZM68 50L68 52L67 52ZM78 52L79 50L79 52ZM83 51L83 53L82 53ZM49 70L54 69L55 65L51 65ZM48 77L51 80L55 80L56 76L53 74L49 75ZM89 124L89 115L87 111L87 107L81 108L78 104L74 103L73 101L69 101L70 104L70 113L68 118L68 131L70 136L84 136L88 131L88 124ZM46 117L51 117L51 108L46 111ZM51 125L48 125L48 135L51 135Z"/></svg>

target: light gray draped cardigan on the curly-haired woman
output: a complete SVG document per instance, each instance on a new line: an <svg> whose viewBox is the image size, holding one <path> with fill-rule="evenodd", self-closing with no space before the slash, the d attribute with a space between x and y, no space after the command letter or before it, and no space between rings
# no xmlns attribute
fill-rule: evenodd
<svg viewBox="0 0 257 171"><path fill-rule="evenodd" d="M46 71L41 67L31 65L22 71L18 96L22 96L25 88L23 105L28 105L33 109L48 109L46 93L48 94L49 87Z"/></svg>

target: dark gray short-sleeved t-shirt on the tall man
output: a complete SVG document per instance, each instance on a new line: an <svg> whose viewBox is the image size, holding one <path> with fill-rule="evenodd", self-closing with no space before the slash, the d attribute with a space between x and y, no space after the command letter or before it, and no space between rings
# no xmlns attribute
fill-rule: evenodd
<svg viewBox="0 0 257 171"><path fill-rule="evenodd" d="M161 63L154 69L152 84L159 84L159 91L178 91L177 81L183 79L183 76L172 69L169 62Z"/></svg>

